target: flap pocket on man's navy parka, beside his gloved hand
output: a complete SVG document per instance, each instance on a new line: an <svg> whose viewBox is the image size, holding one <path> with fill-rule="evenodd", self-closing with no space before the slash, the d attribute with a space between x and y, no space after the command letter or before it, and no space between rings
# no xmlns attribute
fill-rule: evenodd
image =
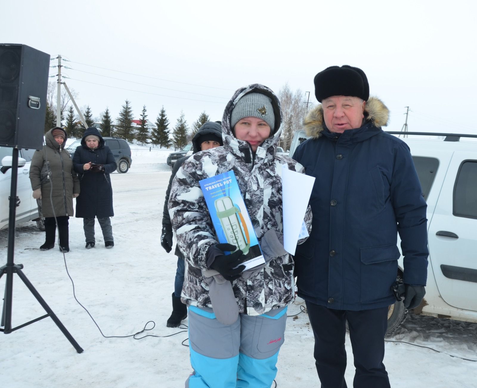
<svg viewBox="0 0 477 388"><path fill-rule="evenodd" d="M391 295L391 285L396 280L397 259L400 253L396 244L360 249L362 303L377 302Z"/></svg>

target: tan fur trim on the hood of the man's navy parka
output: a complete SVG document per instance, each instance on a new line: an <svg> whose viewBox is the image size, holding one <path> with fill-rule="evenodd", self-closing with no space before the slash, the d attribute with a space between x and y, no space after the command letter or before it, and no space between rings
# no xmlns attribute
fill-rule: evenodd
<svg viewBox="0 0 477 388"><path fill-rule="evenodd" d="M364 119L372 121L376 127L387 126L389 109L377 97L370 97L364 107ZM311 109L303 120L303 129L307 136L317 139L321 136L321 131L325 129L323 117L323 105L318 105Z"/></svg>

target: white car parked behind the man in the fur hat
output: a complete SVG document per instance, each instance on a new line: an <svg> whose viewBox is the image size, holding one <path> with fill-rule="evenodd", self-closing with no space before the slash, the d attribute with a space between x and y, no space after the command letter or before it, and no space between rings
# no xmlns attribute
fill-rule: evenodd
<svg viewBox="0 0 477 388"><path fill-rule="evenodd" d="M402 138L411 149L427 202L426 294L414 313L477 322L477 141L472 141L477 135L419 134L439 135L445 140L416 138L413 132ZM306 139L304 131L296 131L290 156ZM398 237L398 247L400 244ZM402 256L398 266L399 279L404 268ZM389 307L388 335L406 315L402 302Z"/></svg>

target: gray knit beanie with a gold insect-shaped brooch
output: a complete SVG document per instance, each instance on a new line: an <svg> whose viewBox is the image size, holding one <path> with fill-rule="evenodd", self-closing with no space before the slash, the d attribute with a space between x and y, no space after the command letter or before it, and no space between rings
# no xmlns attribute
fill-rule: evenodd
<svg viewBox="0 0 477 388"><path fill-rule="evenodd" d="M257 117L267 122L271 132L275 129L275 114L271 98L261 93L245 94L235 105L230 116L232 128L244 117Z"/></svg>

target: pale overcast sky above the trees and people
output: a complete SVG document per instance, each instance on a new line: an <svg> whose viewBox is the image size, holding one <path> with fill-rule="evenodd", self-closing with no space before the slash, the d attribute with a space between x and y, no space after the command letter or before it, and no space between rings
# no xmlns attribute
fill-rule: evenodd
<svg viewBox="0 0 477 388"><path fill-rule="evenodd" d="M189 126L202 111L220 120L251 83L288 83L316 104L314 75L349 64L391 110L389 130L408 105L410 131L477 133L475 4L1 0L0 41L71 61L64 81L93 116L109 107L115 119L128 99L152 122L164 105L171 128L181 110Z"/></svg>

